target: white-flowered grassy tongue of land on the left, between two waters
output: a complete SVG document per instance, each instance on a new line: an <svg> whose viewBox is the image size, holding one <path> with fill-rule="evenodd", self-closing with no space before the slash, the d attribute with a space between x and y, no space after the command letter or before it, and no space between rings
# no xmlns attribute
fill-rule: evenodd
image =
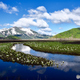
<svg viewBox="0 0 80 80"><path fill-rule="evenodd" d="M36 57L22 52L16 52L11 47L17 43L0 43L0 59L4 61L18 62L27 65L52 66L53 61Z"/></svg>

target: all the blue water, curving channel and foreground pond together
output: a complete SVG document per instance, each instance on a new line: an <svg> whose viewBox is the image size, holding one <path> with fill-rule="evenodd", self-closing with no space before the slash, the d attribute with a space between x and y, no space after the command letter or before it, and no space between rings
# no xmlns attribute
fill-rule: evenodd
<svg viewBox="0 0 80 80"><path fill-rule="evenodd" d="M24 54L55 60L59 67L28 66L0 60L0 80L78 80L80 56L39 52L23 44L16 44L12 49Z"/></svg>

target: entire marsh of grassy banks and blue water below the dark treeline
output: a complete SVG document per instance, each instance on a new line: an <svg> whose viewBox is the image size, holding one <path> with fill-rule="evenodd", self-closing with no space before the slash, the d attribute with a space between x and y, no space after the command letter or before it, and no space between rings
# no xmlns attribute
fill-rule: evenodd
<svg viewBox="0 0 80 80"><path fill-rule="evenodd" d="M0 65L0 79L76 80L80 45L74 41L0 43Z"/></svg>

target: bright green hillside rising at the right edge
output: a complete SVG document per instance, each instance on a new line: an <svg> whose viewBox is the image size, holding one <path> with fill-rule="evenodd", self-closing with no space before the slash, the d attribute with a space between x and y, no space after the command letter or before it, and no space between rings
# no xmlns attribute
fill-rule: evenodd
<svg viewBox="0 0 80 80"><path fill-rule="evenodd" d="M73 28L71 30L59 33L52 38L80 38L80 28Z"/></svg>

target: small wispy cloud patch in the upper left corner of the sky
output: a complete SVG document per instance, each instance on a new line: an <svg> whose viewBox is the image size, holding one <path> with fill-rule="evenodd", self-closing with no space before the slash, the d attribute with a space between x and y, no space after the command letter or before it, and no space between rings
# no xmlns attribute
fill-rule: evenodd
<svg viewBox="0 0 80 80"><path fill-rule="evenodd" d="M3 9L5 12L9 14L18 12L18 9L16 7L8 6L7 4L4 4L3 2L0 2L0 9Z"/></svg>

